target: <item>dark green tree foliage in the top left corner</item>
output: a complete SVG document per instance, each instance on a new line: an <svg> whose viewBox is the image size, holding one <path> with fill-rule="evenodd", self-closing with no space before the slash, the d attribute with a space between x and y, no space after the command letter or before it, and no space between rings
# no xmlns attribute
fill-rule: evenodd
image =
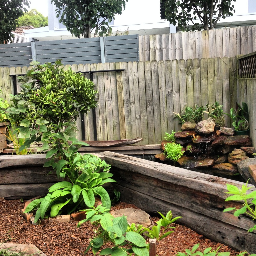
<svg viewBox="0 0 256 256"><path fill-rule="evenodd" d="M27 12L28 0L0 0L0 43L13 38L12 31L16 29L17 18Z"/></svg>

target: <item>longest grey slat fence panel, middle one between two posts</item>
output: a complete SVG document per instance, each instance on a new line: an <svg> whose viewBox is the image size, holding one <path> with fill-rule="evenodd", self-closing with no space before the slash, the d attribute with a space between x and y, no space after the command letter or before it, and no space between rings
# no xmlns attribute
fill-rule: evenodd
<svg viewBox="0 0 256 256"><path fill-rule="evenodd" d="M55 62L62 59L66 64L87 64L101 62L100 38L81 38L35 42L37 61Z"/></svg>

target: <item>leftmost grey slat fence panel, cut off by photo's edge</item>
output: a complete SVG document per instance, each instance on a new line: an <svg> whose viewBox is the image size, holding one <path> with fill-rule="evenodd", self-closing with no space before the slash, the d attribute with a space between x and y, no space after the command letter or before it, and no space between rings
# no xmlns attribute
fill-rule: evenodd
<svg viewBox="0 0 256 256"><path fill-rule="evenodd" d="M1 44L0 67L28 66L32 60L31 43Z"/></svg>

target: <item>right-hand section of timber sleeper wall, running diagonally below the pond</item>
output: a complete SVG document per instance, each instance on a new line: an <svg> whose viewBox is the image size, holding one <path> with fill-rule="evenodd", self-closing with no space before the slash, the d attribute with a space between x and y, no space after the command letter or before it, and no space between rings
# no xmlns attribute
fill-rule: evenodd
<svg viewBox="0 0 256 256"><path fill-rule="evenodd" d="M121 191L121 201L146 212L172 210L175 217L183 217L177 223L238 251L256 253L256 232L247 232L255 222L246 216L238 218L232 212L223 212L225 208L242 205L225 202L229 196L225 194L226 184L241 187L244 183L117 153L101 154L112 165L111 172L117 181L113 186Z"/></svg>

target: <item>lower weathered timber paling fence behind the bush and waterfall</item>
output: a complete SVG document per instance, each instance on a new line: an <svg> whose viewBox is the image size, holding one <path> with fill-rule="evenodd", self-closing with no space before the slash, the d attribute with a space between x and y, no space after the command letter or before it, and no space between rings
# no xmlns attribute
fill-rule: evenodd
<svg viewBox="0 0 256 256"><path fill-rule="evenodd" d="M237 100L235 57L79 64L66 65L65 69L69 67L82 72L125 69L93 73L99 92L96 108L98 140L141 137L142 144L159 144L165 132L180 130L173 112L180 113L186 105L205 106L219 101L228 113ZM3 90L0 96L9 100L9 94L13 93L9 74L24 74L27 70L27 67L0 68L0 88ZM84 116L84 124L86 140L94 140L91 112ZM80 120L78 129L81 139Z"/></svg>

